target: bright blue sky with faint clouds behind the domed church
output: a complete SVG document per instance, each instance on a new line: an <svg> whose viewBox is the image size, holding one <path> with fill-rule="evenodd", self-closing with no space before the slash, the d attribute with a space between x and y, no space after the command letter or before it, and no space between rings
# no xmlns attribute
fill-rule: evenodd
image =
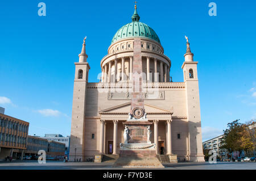
<svg viewBox="0 0 256 181"><path fill-rule="evenodd" d="M46 16L38 16L38 3ZM209 3L217 16L209 16ZM171 58L174 82L183 81L185 39L199 61L203 140L235 119L256 117L255 1L138 1L141 22L158 34ZM134 1L2 1L0 3L0 106L28 121L29 134L71 131L74 62L82 40L98 82L100 61L115 32L131 22Z"/></svg>

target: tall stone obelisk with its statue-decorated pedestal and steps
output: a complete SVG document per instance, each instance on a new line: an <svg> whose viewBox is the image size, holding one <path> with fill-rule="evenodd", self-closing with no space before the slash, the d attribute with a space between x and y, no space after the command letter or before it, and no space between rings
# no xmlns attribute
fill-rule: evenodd
<svg viewBox="0 0 256 181"><path fill-rule="evenodd" d="M141 40L134 40L133 92L131 111L123 123L124 142L120 144L119 158L113 167L163 168L156 158L155 144L151 143L151 122L147 120L142 93Z"/></svg>

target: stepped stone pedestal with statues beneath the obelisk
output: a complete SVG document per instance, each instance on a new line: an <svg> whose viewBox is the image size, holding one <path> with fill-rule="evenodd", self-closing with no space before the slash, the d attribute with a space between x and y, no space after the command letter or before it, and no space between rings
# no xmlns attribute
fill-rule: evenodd
<svg viewBox="0 0 256 181"><path fill-rule="evenodd" d="M127 140L120 144L119 158L113 167L164 168L156 157L155 144L150 141L151 124L147 120L128 120L123 123L127 129Z"/></svg>

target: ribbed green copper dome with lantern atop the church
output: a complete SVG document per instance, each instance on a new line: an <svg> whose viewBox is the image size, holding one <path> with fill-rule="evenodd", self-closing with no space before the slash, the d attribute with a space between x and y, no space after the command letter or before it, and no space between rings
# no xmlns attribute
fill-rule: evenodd
<svg viewBox="0 0 256 181"><path fill-rule="evenodd" d="M134 10L134 14L131 17L133 22L122 26L114 35L112 39L112 44L115 41L125 39L127 37L147 37L148 39L155 40L160 44L158 35L155 31L147 26L145 23L139 22L139 15L137 14L137 9Z"/></svg>

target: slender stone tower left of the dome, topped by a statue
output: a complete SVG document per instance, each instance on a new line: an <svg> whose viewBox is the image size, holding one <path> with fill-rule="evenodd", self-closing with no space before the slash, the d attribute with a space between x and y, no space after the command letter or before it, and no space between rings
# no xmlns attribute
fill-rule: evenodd
<svg viewBox="0 0 256 181"><path fill-rule="evenodd" d="M82 44L82 51L79 54L79 62L75 62L75 80L73 90L71 142L69 149L69 160L84 161L84 129L86 109L86 85L88 83L88 71L90 66L86 61L88 55L85 51L85 40Z"/></svg>

